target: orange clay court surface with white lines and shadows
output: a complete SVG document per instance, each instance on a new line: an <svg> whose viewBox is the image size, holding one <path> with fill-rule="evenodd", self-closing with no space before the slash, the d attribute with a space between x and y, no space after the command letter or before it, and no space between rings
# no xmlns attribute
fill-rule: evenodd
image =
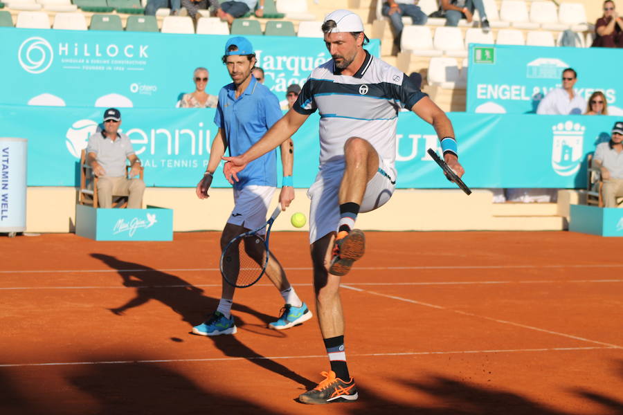
<svg viewBox="0 0 623 415"><path fill-rule="evenodd" d="M343 278L356 403L298 394L328 360L316 319L189 334L220 297L218 232L173 242L0 238L0 414L623 414L623 240L572 232L367 232ZM271 248L315 311L307 234Z"/></svg>

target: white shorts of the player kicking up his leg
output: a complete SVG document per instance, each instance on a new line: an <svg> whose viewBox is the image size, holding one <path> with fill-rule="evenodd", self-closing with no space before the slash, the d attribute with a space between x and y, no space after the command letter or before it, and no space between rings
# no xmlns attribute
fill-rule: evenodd
<svg viewBox="0 0 623 415"><path fill-rule="evenodd" d="M337 230L340 222L338 192L344 176L344 164L324 165L309 190L309 243ZM392 197L396 188L396 170L379 157L379 171L365 187L359 212L380 208Z"/></svg>

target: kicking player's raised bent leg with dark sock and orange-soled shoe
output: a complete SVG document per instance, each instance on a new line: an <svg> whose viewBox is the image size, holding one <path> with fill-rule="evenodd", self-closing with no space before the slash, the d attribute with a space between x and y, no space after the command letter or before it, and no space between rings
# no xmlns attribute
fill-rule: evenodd
<svg viewBox="0 0 623 415"><path fill-rule="evenodd" d="M338 193L340 222L329 273L346 275L365 252L365 237L354 222L368 182L377 174L379 155L363 138L351 137L344 145L345 169Z"/></svg>

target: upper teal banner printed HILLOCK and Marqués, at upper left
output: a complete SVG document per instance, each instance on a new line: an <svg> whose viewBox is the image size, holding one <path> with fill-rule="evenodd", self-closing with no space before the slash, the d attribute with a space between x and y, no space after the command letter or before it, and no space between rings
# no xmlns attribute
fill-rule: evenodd
<svg viewBox="0 0 623 415"><path fill-rule="evenodd" d="M195 91L192 72L210 71L206 91L231 83L222 63L229 36L0 28L0 104L172 108ZM265 84L285 100L331 58L322 39L249 36ZM367 46L379 56L379 39ZM10 80L10 82L8 82Z"/></svg>

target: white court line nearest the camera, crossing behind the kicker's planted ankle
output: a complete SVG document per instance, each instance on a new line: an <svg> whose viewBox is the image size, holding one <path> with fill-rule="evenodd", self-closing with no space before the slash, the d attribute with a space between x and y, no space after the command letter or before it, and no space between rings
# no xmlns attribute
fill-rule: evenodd
<svg viewBox="0 0 623 415"><path fill-rule="evenodd" d="M395 353L348 353L352 357L386 357L386 356L432 356L448 354L481 354L481 353L525 353L537 351L586 351L617 349L617 347L550 347L540 349L494 349L494 350L462 350L462 351L405 351ZM154 360L105 360L100 362L47 362L47 363L10 363L0 367L32 367L32 366L74 366L74 365L133 365L136 363L171 363L171 362L231 362L234 360L285 360L285 359L316 359L327 358L323 355L308 356L251 356L249 358L203 358L203 359L154 359Z"/></svg>

